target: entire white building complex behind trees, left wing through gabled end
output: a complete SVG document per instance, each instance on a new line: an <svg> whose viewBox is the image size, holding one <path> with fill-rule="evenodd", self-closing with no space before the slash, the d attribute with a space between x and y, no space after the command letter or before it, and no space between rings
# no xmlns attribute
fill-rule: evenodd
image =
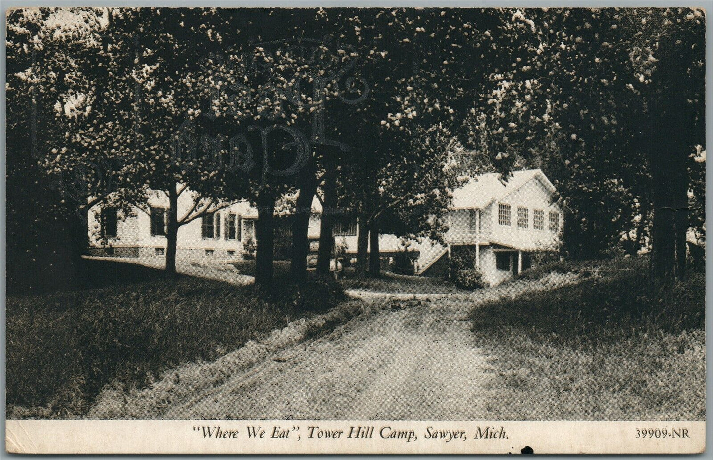
<svg viewBox="0 0 713 460"><path fill-rule="evenodd" d="M476 266L488 283L496 285L513 278L529 265L529 253L558 242L563 214L553 202L555 187L540 169L514 172L503 184L498 174L483 174L453 191L448 211L446 246L431 241L411 242L419 251L416 273L438 276L447 263L446 254L462 246L476 249ZM148 212L135 210L129 216L111 207L89 211L91 253L95 255L163 258L165 254L165 209L168 199L156 192ZM193 207L190 194L182 194L178 214ZM322 207L315 197L309 219L312 251L317 249ZM232 204L210 216L195 219L178 229L177 258L240 260L255 241L257 210L247 202ZM357 226L345 221L334 228L337 245L356 253ZM277 219L276 232L289 234L287 219ZM379 237L382 257L403 247L394 235Z"/></svg>

